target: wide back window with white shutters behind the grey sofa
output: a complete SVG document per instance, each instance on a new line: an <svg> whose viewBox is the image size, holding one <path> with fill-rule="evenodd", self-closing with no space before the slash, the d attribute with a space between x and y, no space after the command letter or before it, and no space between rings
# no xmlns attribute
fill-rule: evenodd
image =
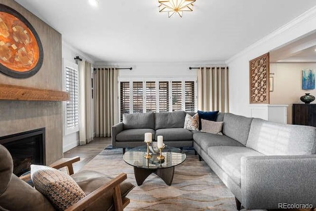
<svg viewBox="0 0 316 211"><path fill-rule="evenodd" d="M124 113L195 112L197 81L189 78L132 78L119 81L120 120Z"/></svg>

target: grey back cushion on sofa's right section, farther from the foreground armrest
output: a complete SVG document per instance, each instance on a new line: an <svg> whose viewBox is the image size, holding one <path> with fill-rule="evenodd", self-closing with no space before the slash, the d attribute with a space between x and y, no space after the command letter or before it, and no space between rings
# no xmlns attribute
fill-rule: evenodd
<svg viewBox="0 0 316 211"><path fill-rule="evenodd" d="M253 118L225 113L223 133L246 145L252 119Z"/></svg>

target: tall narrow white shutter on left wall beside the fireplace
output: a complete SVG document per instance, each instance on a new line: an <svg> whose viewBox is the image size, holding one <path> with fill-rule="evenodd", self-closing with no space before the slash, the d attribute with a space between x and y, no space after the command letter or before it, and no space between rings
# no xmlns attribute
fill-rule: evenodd
<svg viewBox="0 0 316 211"><path fill-rule="evenodd" d="M78 70L66 67L66 91L70 93L70 100L66 102L66 127L79 126L79 82Z"/></svg>

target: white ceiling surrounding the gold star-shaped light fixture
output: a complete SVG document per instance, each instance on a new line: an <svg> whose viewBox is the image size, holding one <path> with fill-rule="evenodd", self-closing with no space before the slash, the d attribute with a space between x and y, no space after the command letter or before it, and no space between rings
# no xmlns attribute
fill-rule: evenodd
<svg viewBox="0 0 316 211"><path fill-rule="evenodd" d="M197 0L183 18L158 0L16 0L94 62L225 61L315 0Z"/></svg>

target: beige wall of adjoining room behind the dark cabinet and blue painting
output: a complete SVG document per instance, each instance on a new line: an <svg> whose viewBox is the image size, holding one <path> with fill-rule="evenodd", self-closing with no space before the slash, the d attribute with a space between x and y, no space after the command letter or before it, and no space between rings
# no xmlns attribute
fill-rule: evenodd
<svg viewBox="0 0 316 211"><path fill-rule="evenodd" d="M316 90L302 89L302 70L316 69L315 63L270 64L274 77L274 90L270 92L271 104L287 104L287 124L292 124L292 104L303 103L300 97L305 93L316 96ZM312 103L316 103L315 101Z"/></svg>

